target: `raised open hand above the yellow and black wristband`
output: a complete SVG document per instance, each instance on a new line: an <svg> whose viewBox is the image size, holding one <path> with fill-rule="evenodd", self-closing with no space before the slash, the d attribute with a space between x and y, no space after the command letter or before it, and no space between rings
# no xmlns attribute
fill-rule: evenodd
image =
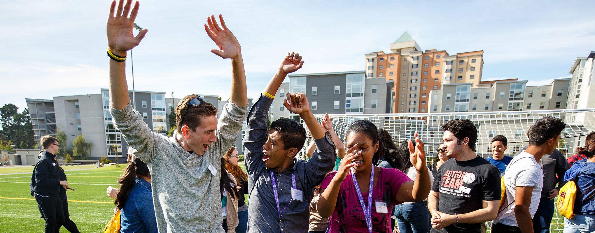
<svg viewBox="0 0 595 233"><path fill-rule="evenodd" d="M126 51L139 45L140 40L145 37L148 32L147 29L140 30L139 34L134 36L132 33L134 27L134 19L139 12L139 2L134 3L134 8L130 11L132 0L127 0L124 5L124 0L120 0L118 8L116 9L115 0L109 7L109 17L107 23L108 46L112 53L120 56L126 55ZM115 15L114 15L114 11ZM130 18L128 13L130 12Z"/></svg>

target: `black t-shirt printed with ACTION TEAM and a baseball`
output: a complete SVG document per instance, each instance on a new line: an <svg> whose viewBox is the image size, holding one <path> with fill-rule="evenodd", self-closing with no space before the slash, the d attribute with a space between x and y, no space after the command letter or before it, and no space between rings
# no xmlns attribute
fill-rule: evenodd
<svg viewBox="0 0 595 233"><path fill-rule="evenodd" d="M432 190L440 193L438 210L449 215L474 212L483 200L500 200L500 170L486 159L449 159L437 172ZM480 232L481 223L453 223L446 231Z"/></svg>

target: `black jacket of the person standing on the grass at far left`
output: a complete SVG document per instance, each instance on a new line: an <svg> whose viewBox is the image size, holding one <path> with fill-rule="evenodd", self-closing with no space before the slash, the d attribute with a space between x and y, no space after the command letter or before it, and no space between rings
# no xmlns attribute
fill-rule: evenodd
<svg viewBox="0 0 595 233"><path fill-rule="evenodd" d="M55 155L43 152L31 175L31 191L41 196L58 196L60 168Z"/></svg>

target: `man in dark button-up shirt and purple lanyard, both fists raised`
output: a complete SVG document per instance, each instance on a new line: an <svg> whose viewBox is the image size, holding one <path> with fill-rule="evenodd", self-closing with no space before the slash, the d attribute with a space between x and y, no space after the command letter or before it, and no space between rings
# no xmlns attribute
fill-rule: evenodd
<svg viewBox="0 0 595 233"><path fill-rule="evenodd" d="M317 155L307 162L296 160L306 141L306 130L299 122L283 118L273 121L270 130L267 128L274 98L271 94L277 93L287 74L302 67L301 59L297 53L287 54L248 113L243 140L250 192L248 232L308 232L314 187L333 170L337 156L334 145L312 115L303 93L287 93L284 105L308 126Z"/></svg>

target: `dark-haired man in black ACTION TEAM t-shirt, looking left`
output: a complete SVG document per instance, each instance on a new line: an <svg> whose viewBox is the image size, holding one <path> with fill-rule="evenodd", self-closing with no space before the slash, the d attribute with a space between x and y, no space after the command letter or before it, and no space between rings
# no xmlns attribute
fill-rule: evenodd
<svg viewBox="0 0 595 233"><path fill-rule="evenodd" d="M500 171L475 155L477 128L469 119L442 125L449 159L438 170L428 196L432 227L447 232L480 233L482 222L496 218L500 204Z"/></svg>

